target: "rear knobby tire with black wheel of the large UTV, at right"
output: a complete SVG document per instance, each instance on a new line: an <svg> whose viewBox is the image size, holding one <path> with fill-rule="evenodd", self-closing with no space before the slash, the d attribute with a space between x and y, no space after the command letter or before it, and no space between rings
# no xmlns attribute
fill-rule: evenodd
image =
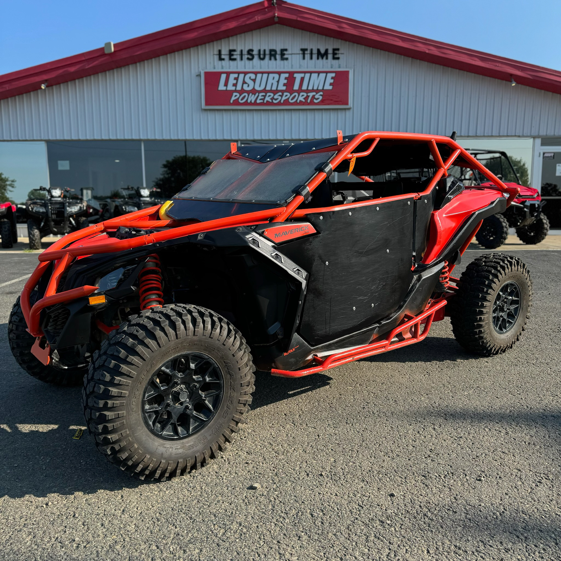
<svg viewBox="0 0 561 561"><path fill-rule="evenodd" d="M532 280L521 260L501 253L477 257L450 301L454 337L477 355L503 353L521 337L531 306Z"/></svg>

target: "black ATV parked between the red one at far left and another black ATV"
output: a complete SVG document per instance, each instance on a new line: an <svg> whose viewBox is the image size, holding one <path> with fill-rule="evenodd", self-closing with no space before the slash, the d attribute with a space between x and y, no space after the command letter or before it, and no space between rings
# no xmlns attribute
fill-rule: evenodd
<svg viewBox="0 0 561 561"><path fill-rule="evenodd" d="M49 234L67 234L88 226L86 203L71 199L68 187L39 187L46 199L25 201L29 249L41 249L41 238Z"/></svg>

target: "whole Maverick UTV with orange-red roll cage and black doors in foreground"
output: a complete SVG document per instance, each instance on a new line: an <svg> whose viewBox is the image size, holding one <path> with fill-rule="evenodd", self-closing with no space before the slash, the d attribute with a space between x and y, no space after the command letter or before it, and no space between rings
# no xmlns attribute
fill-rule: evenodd
<svg viewBox="0 0 561 561"><path fill-rule="evenodd" d="M464 186L452 164L488 186ZM86 424L109 461L165 480L231 442L256 367L325 372L420 342L445 315L467 351L509 350L530 315L526 265L488 254L452 272L518 191L444 136L232 143L163 205L40 254L10 347L39 380L84 383Z"/></svg>

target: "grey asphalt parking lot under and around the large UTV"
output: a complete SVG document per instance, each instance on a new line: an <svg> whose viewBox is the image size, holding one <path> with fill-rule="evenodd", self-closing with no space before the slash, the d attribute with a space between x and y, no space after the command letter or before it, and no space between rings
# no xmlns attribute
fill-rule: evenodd
<svg viewBox="0 0 561 561"><path fill-rule="evenodd" d="M7 321L25 281L3 283L37 260L2 253L0 559L559 559L561 252L516 255L535 297L511 352L468 355L446 318L327 374L260 374L227 452L150 484L72 439L80 389L16 365Z"/></svg>

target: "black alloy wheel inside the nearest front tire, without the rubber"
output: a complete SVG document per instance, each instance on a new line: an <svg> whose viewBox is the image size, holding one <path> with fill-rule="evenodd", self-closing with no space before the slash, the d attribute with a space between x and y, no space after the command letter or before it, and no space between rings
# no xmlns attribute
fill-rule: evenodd
<svg viewBox="0 0 561 561"><path fill-rule="evenodd" d="M155 436L181 440L209 424L223 393L222 371L212 358L182 353L150 378L142 398L142 419Z"/></svg>

